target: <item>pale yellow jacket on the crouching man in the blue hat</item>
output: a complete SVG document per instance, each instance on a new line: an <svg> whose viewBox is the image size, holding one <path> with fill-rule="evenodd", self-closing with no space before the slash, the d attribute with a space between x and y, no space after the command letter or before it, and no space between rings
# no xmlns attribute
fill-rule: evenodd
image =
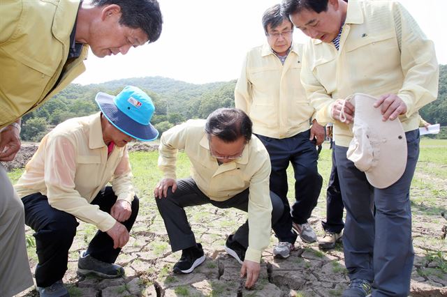
<svg viewBox="0 0 447 297"><path fill-rule="evenodd" d="M52 207L107 231L116 220L90 203L109 182L119 200L131 203L131 178L126 146L108 156L97 113L69 119L45 135L15 190L21 198L40 192Z"/></svg>

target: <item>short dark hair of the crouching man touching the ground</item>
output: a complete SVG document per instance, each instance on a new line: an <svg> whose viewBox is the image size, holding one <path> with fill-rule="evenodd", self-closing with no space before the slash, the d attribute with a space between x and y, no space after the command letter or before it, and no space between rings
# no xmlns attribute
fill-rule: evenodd
<svg viewBox="0 0 447 297"><path fill-rule="evenodd" d="M241 136L249 142L252 126L249 116L241 109L219 108L208 116L205 132L208 138L216 136L223 142L235 142Z"/></svg>

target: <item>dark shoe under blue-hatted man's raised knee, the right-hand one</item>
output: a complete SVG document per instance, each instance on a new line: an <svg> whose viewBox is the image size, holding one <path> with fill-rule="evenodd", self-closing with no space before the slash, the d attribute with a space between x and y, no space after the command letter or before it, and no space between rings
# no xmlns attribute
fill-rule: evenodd
<svg viewBox="0 0 447 297"><path fill-rule="evenodd" d="M89 254L81 254L78 259L78 274L94 274L103 278L117 278L124 276L124 268L117 264L99 261Z"/></svg>

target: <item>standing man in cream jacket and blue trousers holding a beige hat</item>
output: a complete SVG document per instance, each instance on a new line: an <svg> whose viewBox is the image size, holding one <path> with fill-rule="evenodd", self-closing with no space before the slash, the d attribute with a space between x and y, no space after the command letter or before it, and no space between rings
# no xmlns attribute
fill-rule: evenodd
<svg viewBox="0 0 447 297"><path fill-rule="evenodd" d="M283 8L312 38L305 47L301 80L316 119L334 123L346 207L344 259L351 278L343 296L371 291L372 296L408 296L414 259L409 190L419 153L418 109L437 98L434 45L397 1L285 0ZM379 109L379 121L402 122L406 167L386 188L374 187L346 157L354 106L344 98L354 93L378 98L371 108Z"/></svg>

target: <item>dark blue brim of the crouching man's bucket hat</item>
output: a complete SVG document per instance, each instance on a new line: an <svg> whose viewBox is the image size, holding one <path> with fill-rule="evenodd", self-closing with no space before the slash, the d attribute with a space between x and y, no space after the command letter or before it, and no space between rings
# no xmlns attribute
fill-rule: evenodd
<svg viewBox="0 0 447 297"><path fill-rule="evenodd" d="M99 92L96 94L95 101L101 109L101 112L103 112L105 118L108 119L115 128L126 135L143 142L150 142L159 137L159 131L157 131L151 123L149 123L149 125L142 125L133 121L133 119L117 108L113 102L113 98L115 98L115 96Z"/></svg>

